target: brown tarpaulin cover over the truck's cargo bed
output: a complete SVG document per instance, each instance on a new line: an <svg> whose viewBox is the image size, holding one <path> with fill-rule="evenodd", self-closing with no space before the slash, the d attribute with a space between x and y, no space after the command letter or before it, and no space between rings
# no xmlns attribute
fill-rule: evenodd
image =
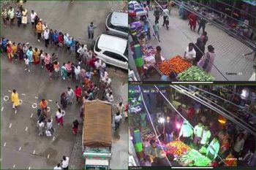
<svg viewBox="0 0 256 170"><path fill-rule="evenodd" d="M105 101L86 101L84 104L83 145L110 147L112 143L111 104Z"/></svg>

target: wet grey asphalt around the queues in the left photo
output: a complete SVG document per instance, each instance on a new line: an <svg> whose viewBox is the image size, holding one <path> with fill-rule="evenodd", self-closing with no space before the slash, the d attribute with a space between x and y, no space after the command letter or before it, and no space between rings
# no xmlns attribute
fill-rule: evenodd
<svg viewBox="0 0 256 170"><path fill-rule="evenodd" d="M110 1L27 1L24 6L29 11L30 21L31 9L34 9L48 23L48 28L57 29L63 33L85 43L90 49L91 42L88 40L87 26L93 21L97 28L94 39L105 31L105 20L111 10ZM26 28L15 26L10 28L10 23L4 28L1 23L1 36L12 42L29 44L49 54L57 53L59 63L75 60L75 55L66 50L55 47L46 48L44 41L37 42L37 36L31 31L31 24ZM30 66L31 72L25 72L24 61L13 61L10 63L7 55L1 54L1 169L53 169L60 163L62 156L69 157L69 169L82 169L82 150L78 143L82 141L81 134L83 125L79 125L77 136L72 134L72 122L80 121L79 109L81 104L76 104L75 98L72 105L65 110L64 127L55 122L56 101L60 103L61 93L66 92L67 87L75 90L78 82L64 81L59 79L49 80L48 73L41 66ZM127 103L127 72L107 66L107 72L112 80L113 104L123 101ZM95 75L92 80L99 87L99 76ZM16 89L22 104L17 112L12 109L11 92ZM101 99L102 93L98 93ZM50 107L50 116L53 117L53 135L39 136L37 128L37 108L39 102L45 98ZM116 109L113 109L113 113ZM49 116L49 118L50 118ZM122 120L121 128L112 131L112 158L111 169L126 169L128 166L128 123ZM77 152L74 152L76 150ZM78 163L79 162L79 163Z"/></svg>

